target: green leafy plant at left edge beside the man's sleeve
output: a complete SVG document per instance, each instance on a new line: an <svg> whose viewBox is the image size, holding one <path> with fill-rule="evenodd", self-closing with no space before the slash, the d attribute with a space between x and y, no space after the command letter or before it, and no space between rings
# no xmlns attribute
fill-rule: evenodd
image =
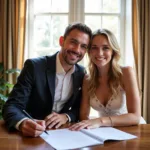
<svg viewBox="0 0 150 150"><path fill-rule="evenodd" d="M8 74L20 73L19 69L4 69L3 63L0 63L0 119L2 119L2 108L5 104L9 91L13 88L13 84L8 82L5 77Z"/></svg>

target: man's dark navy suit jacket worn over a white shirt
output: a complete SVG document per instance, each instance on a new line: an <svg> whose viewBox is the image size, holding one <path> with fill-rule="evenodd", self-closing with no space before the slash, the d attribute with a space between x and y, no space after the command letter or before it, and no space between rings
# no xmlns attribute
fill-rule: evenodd
<svg viewBox="0 0 150 150"><path fill-rule="evenodd" d="M22 113L24 109L35 119L44 119L51 114L55 95L56 55L28 59L25 62L2 111L9 130L26 117ZM84 73L84 68L76 64L72 74L73 94L60 112L68 114L72 122L79 117Z"/></svg>

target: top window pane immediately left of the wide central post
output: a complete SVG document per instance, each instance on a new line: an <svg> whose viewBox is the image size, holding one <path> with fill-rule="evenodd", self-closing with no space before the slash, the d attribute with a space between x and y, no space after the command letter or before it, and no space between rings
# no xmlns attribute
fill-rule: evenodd
<svg viewBox="0 0 150 150"><path fill-rule="evenodd" d="M68 12L68 0L52 0L52 12Z"/></svg>

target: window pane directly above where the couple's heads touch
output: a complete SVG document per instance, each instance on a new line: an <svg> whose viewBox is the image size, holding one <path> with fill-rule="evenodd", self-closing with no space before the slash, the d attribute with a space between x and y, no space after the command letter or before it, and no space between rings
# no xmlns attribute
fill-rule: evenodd
<svg viewBox="0 0 150 150"><path fill-rule="evenodd" d="M92 31L101 28L101 16L85 16L85 24L87 24Z"/></svg>

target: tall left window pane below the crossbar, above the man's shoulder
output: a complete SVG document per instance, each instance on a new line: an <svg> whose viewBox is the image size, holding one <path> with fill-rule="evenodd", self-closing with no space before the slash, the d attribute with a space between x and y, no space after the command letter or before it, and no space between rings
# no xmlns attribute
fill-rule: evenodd
<svg viewBox="0 0 150 150"><path fill-rule="evenodd" d="M38 16L34 20L34 47L50 47L50 16Z"/></svg>

